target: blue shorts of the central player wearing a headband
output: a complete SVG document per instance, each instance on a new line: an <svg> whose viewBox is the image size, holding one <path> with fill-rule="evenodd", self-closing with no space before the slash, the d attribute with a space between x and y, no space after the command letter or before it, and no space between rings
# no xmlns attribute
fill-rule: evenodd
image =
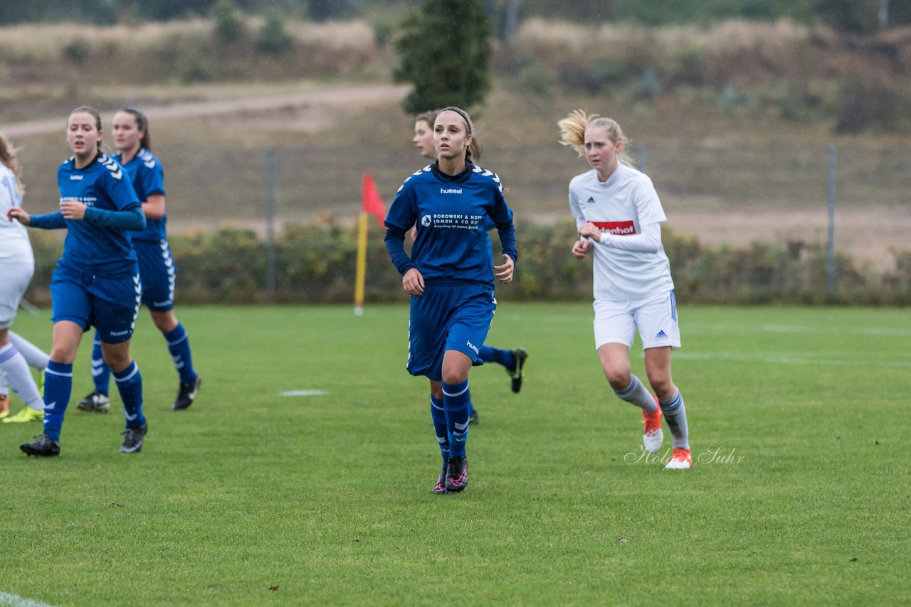
<svg viewBox="0 0 911 607"><path fill-rule="evenodd" d="M424 295L412 296L408 323L408 372L443 380L443 354L455 349L480 362L496 298L492 285L464 281L425 283Z"/></svg>

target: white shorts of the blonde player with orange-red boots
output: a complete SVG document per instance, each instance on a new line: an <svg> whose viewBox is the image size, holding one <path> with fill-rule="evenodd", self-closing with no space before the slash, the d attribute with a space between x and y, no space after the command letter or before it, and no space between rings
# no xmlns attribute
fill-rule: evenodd
<svg viewBox="0 0 911 607"><path fill-rule="evenodd" d="M677 301L670 290L653 298L630 301L595 299L595 349L604 344L621 343L632 348L639 329L642 349L681 347L677 324Z"/></svg>

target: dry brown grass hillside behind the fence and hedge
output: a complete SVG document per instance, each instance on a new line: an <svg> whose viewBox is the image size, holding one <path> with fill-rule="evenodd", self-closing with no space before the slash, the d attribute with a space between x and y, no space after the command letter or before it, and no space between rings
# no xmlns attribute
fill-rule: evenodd
<svg viewBox="0 0 911 607"><path fill-rule="evenodd" d="M186 27L202 35L208 26L187 22L168 27ZM325 56L332 56L335 51L330 47L335 45L341 56L364 57L362 65L343 72L347 74L343 86L355 92L341 101L325 98L260 104L211 115L197 107L192 115L173 112L153 122L154 151L166 168L172 230L229 223L261 231L267 147L277 153L277 216L281 222L302 222L326 214L343 221L353 218L364 172L374 175L386 202L390 201L402 179L422 166L423 160L410 142L410 117L403 115L396 98L379 95L381 89L374 88L388 90L388 79L382 77L387 66L377 58L384 57L385 51L375 46L369 28L356 34L360 26L327 25L339 29L312 34L313 39L333 40L317 45ZM166 26L161 28L149 29L146 38L139 35L141 28L123 31L133 31L137 48L154 47L152 42L142 41L158 39L156 35L164 35L162 32L173 34ZM304 30L300 32L298 36ZM85 35L76 30L72 34ZM587 35L596 36L598 44L580 42ZM902 46L906 38L893 35L896 41L889 48L906 48ZM498 49L496 90L476 112L485 145L482 164L503 177L520 220L568 218L568 180L587 165L568 148L558 146L556 123L569 110L581 107L618 119L633 139L634 158L644 146L646 170L658 187L670 228L707 244L820 242L826 230L827 147L834 145L839 153L836 246L876 267L888 267L893 263L893 251L909 248L906 227L911 225L907 195L911 177L906 164L911 142L907 136L901 130L884 129L836 135L836 114L818 111L797 119L783 111L781 104L773 103L773 97L782 96L788 83L804 77L816 65L821 68L820 77L807 89L833 96L825 103L834 106L843 96L838 78L844 75L836 71L853 65L845 56L855 57L871 78L897 81L896 70L905 65L907 54L898 53L893 63L881 58L865 61L862 58L867 54L878 57L885 51L875 53L870 49L873 43L865 41L852 55L847 42L825 42L825 36L820 30L788 24L636 30L529 22L514 47ZM102 42L98 32L89 37L97 38L93 44L98 49L106 44L116 46ZM55 44L66 46L66 40L61 34ZM826 55L824 50L819 50L827 44L839 49L829 63L821 58ZM47 56L54 56L63 46L46 51ZM25 47L25 42L14 44L0 33L0 55L5 59L15 49L23 56ZM115 56L127 52L117 48ZM800 51L796 55L794 48ZM623 62L640 52L652 57L655 65L666 66L666 74L658 75L662 86L641 95L637 88L641 75L635 71L631 76L609 75L615 84L608 79L589 86L578 81L580 72L559 76L561 70L568 71L573 57L591 54L591 49L604 56L601 65L627 65ZM102 51L92 51L96 52ZM814 55L817 52L821 55ZM38 56L37 49L34 53ZM536 62L529 64L529 56L537 57ZM111 61L116 64L111 74L128 69L121 59ZM73 66L52 63L69 78L78 73ZM12 64L5 63L7 83L19 77L16 70L21 66ZM36 73L43 65L35 60ZM669 75L681 74L681 66L698 67L703 80L729 73L731 82L714 86L708 80L698 84L701 80L692 79L688 84L681 80L673 85ZM273 69L280 74L292 68ZM529 77L536 69L547 77ZM551 74L547 71L551 69L556 71ZM26 169L26 203L35 210L55 205L56 166L67 157L63 117L72 106L97 105L109 120L111 112L126 103L173 107L187 102L214 104L227 98L286 98L328 86L318 80L268 75L255 82L138 85L130 80L120 83L113 76L103 78L101 72L93 74L98 82L80 81L73 86L67 80L42 77L28 86L0 89L0 130L4 125L38 118L61 123L59 133L24 136L15 142L22 148ZM731 98L730 89L740 97ZM750 97L751 91L758 92Z"/></svg>

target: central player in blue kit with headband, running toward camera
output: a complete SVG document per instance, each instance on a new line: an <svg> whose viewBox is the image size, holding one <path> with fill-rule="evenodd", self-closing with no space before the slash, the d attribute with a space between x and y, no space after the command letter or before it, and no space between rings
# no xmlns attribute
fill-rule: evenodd
<svg viewBox="0 0 911 607"><path fill-rule="evenodd" d="M385 220L389 257L412 296L407 369L430 379L431 419L443 455L435 493L463 491L468 484L468 372L480 359L494 317L495 278L510 282L517 259L512 210L500 179L472 162L474 130L465 111L440 111L436 161L405 180ZM482 229L488 217L503 245L499 266ZM404 237L415 225L409 258Z"/></svg>

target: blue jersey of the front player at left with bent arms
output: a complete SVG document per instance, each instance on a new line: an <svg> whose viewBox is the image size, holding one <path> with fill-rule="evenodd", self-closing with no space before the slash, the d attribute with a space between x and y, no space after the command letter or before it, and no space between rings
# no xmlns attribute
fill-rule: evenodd
<svg viewBox="0 0 911 607"><path fill-rule="evenodd" d="M61 200L75 198L88 207L124 211L139 206L123 167L107 154L98 154L83 168L77 168L75 158L70 157L57 169L57 187ZM67 219L67 239L59 263L77 271L117 277L136 268L136 252L125 230Z"/></svg>

